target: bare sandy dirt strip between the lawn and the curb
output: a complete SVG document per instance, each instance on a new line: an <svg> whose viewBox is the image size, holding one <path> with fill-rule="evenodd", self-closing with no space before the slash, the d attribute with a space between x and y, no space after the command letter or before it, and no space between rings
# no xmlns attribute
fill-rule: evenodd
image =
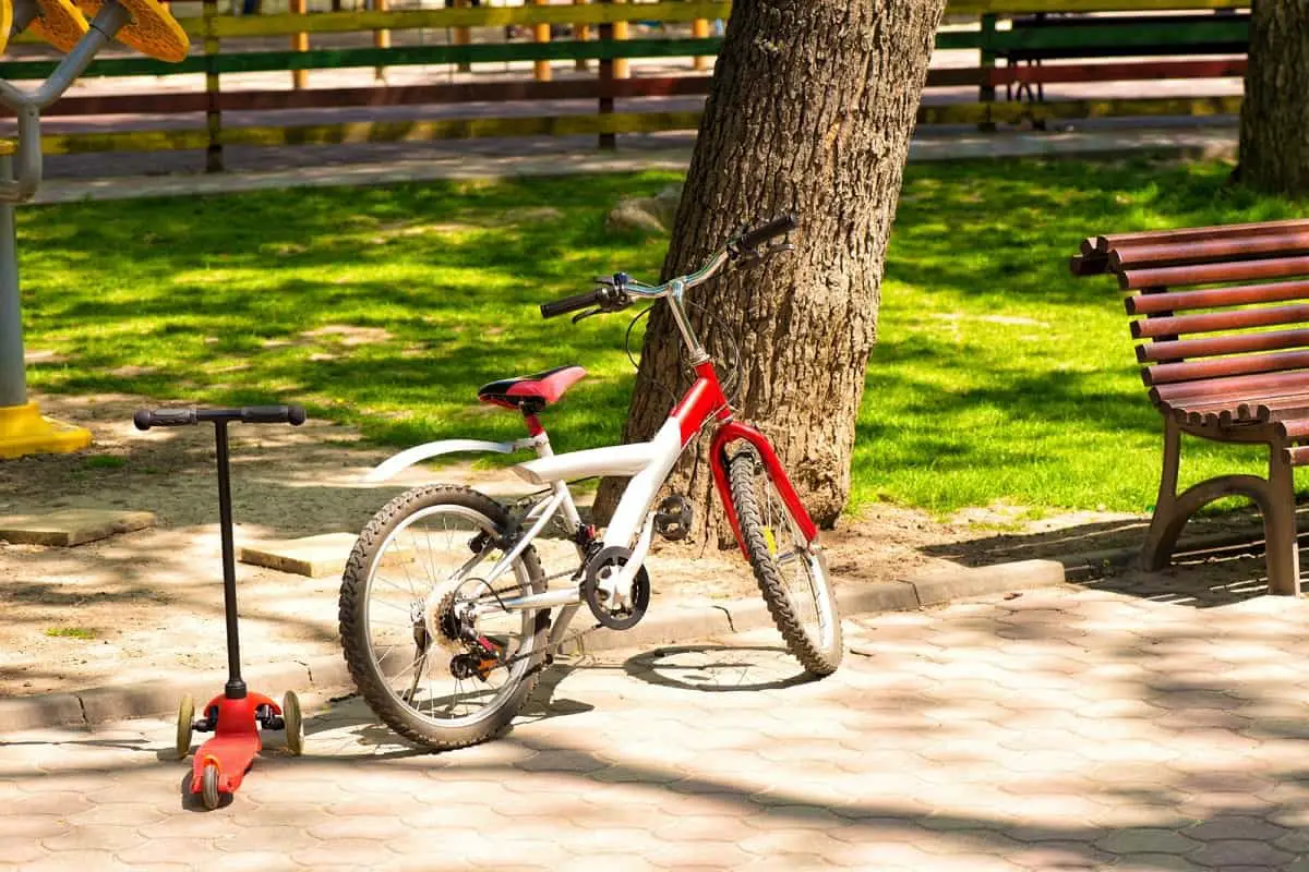
<svg viewBox="0 0 1309 872"><path fill-rule="evenodd" d="M178 669L225 675L223 590L212 428L137 433L148 399L37 397L42 411L92 430L75 455L0 461L0 515L68 507L154 512L154 529L77 548L0 543L0 697L145 681ZM348 428L230 428L237 546L330 532L357 533L394 495L421 484L471 484L496 497L530 488L508 471L411 468L382 485L360 481L389 456L361 448ZM585 499L584 499L585 501ZM999 532L997 532L999 531ZM823 533L838 584L905 580L950 563L983 565L1136 546L1144 519L1079 512L1025 520L995 507L940 522L873 506ZM563 541L542 543L548 573L569 566ZM652 613L672 600L758 596L736 550L657 543L648 562ZM339 652L339 578L308 579L238 565L242 659L247 665ZM579 622L577 629L581 628Z"/></svg>

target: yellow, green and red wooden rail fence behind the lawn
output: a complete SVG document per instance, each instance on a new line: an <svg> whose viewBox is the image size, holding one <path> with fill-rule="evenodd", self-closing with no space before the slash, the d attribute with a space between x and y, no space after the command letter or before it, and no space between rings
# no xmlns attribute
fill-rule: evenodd
<svg viewBox="0 0 1309 872"><path fill-rule="evenodd" d="M385 3L381 5L385 7ZM1220 78L1245 72L1244 46L1247 16L1237 12L1247 0L953 0L948 13L950 26L936 37L939 51L978 52L978 65L937 68L928 73L931 88L975 88L977 102L925 103L919 123L966 123L992 126L1021 120L1062 120L1132 115L1210 115L1240 110L1240 97L1158 98L1158 99L1063 99L997 101L997 89L1041 88L1056 82L1102 82L1144 78ZM1158 10L1187 14L1161 18ZM1227 12L1224 12L1227 10ZM1030 13L1045 12L1132 12L1140 18L1123 26L1117 17L1060 18L1058 26ZM721 38L707 35L708 21L725 18L730 4L707 0L661 0L630 4L622 0L576 3L573 5L522 7L457 5L450 9L403 9L297 12L268 16L232 17L219 12L215 0L206 0L203 14L183 18L187 33L196 37L198 50L179 64L139 58L106 58L94 61L85 76L206 76L203 92L154 94L97 94L65 97L52 106L48 116L199 114L206 126L195 129L128 129L111 132L52 133L45 139L51 154L98 150L206 149L208 166L221 166L225 145L291 145L327 143L394 143L490 136L594 133L601 141L615 135L668 129L694 129L695 111L614 112L614 99L702 95L708 90L707 76L647 76L623 78L615 68L640 59L712 58ZM1013 18L1007 25L1004 16ZM958 26L971 18L969 26ZM551 25L585 26L589 33L613 35L617 25L635 21L691 25L691 37L640 39L550 39ZM465 42L444 44L391 44L390 34L412 30L469 33L471 27L530 27L531 42ZM357 47L310 47L310 37L326 34L367 34ZM683 31L685 33L685 31ZM386 34L386 39L378 38ZM484 35L484 34L483 34ZM302 50L251 48L250 39L291 37ZM25 42L20 38L16 42ZM287 44L287 43L283 43ZM1144 54L1147 60L1123 60L1124 55ZM1223 56L1207 56L1215 55ZM1034 59L1020 63L1021 59ZM1076 63L1045 63L1041 59L1071 59ZM1103 63L1105 60L1111 63ZM600 61L597 78L545 81L552 61L573 61L581 69ZM1001 61L1003 65L1001 65ZM402 68L530 63L535 80L471 81L421 85L370 85L359 88L302 88L234 90L220 88L224 75L292 71L301 80L308 71ZM45 78L52 60L0 61L0 77L8 80ZM370 81L370 78L369 78ZM597 101L593 114L505 118L439 118L411 120L368 120L325 124L278 124L278 112L304 109L437 106L469 102L524 102L586 99ZM223 112L268 112L267 126L224 128ZM357 114L357 112L356 112Z"/></svg>

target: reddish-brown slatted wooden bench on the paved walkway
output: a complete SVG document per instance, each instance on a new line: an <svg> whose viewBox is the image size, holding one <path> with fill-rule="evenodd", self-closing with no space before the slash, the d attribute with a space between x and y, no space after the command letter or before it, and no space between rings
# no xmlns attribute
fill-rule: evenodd
<svg viewBox="0 0 1309 872"><path fill-rule="evenodd" d="M1292 471L1309 465L1309 221L1124 233L1081 243L1076 276L1111 273L1126 299L1149 399L1164 416L1164 469L1143 550L1172 560L1187 519L1244 494L1263 515L1268 590L1299 595ZM1268 446L1268 476L1177 493L1181 437Z"/></svg>

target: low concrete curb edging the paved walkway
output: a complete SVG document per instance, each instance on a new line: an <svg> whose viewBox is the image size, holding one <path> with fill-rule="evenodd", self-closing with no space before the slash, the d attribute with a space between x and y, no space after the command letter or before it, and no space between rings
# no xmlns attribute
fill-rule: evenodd
<svg viewBox="0 0 1309 872"><path fill-rule="evenodd" d="M1064 563L1028 560L979 569L949 569L906 582L874 582L839 587L836 600L844 617L877 612L907 612L944 605L954 599L1007 591L1033 590L1067 580ZM759 599L665 605L631 630L597 630L564 646L565 654L594 654L619 648L687 642L757 630L772 625L768 609ZM584 626L579 618L575 625ZM242 669L251 689L275 699L295 690L302 701L318 701L348 690L352 684L342 655L330 654L305 660L251 665ZM106 720L171 715L178 702L190 694L199 711L221 693L221 677L209 673L161 679L158 681L109 685L73 693L48 693L0 701L0 732L59 726L89 726Z"/></svg>

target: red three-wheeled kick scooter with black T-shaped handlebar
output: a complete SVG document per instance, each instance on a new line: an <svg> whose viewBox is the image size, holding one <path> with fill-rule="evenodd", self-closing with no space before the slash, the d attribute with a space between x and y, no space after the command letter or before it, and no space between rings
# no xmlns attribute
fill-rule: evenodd
<svg viewBox="0 0 1309 872"><path fill-rule="evenodd" d="M175 428L209 421L219 461L219 528L223 537L223 605L228 622L228 682L223 696L209 699L204 716L195 716L195 701L182 697L177 713L177 758L191 750L191 731L213 732L195 752L191 767L191 792L200 794L204 807L219 807L223 794L234 794L263 749L259 727L285 729L287 750L300 754L304 749L304 726L300 720L300 699L293 690L281 698L281 706L246 689L241 679L241 643L237 638L237 582L236 556L232 544L232 484L228 469L228 424L291 424L305 422L305 411L298 405L253 405L241 409L140 409L132 421L137 430Z"/></svg>

